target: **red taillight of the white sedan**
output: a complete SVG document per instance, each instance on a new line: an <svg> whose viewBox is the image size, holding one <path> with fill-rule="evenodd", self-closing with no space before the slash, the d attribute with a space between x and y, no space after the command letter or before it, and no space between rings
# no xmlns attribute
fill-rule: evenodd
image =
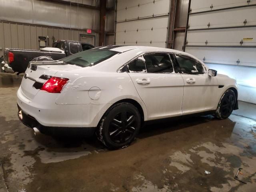
<svg viewBox="0 0 256 192"><path fill-rule="evenodd" d="M60 93L63 86L68 82L67 78L51 77L48 81L44 83L41 90L47 91L49 93Z"/></svg>

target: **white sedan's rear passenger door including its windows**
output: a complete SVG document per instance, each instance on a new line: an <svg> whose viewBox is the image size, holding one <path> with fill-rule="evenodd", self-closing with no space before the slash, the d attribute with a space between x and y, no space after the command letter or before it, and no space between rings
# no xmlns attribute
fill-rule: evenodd
<svg viewBox="0 0 256 192"><path fill-rule="evenodd" d="M148 120L182 115L184 82L174 72L169 54L144 54L126 70L146 105Z"/></svg>

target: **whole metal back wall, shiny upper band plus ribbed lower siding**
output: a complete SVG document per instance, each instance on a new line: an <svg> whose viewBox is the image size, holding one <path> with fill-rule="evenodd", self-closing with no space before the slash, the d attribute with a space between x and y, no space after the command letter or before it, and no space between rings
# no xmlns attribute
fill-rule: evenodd
<svg viewBox="0 0 256 192"><path fill-rule="evenodd" d="M99 6L100 1L72 2ZM86 29L94 31L98 45L98 9L44 0L0 0L0 5L0 57L4 48L38 49L38 36L48 36L49 46L52 36L55 40L79 40L80 34L87 34Z"/></svg>

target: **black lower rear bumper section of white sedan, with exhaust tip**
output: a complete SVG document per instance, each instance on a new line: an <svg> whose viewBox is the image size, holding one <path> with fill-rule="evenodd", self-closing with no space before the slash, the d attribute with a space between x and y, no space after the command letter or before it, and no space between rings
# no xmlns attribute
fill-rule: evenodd
<svg viewBox="0 0 256 192"><path fill-rule="evenodd" d="M94 135L96 127L51 127L43 126L33 116L26 114L18 106L18 118L20 121L30 127L37 128L42 134L51 136L79 136L79 137L90 137Z"/></svg>

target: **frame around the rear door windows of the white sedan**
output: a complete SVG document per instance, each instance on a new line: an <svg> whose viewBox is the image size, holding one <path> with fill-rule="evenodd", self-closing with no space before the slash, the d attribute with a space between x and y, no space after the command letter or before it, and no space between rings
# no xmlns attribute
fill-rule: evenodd
<svg viewBox="0 0 256 192"><path fill-rule="evenodd" d="M146 66L146 70L147 70L147 72L145 72L145 73L148 73L148 74L177 74L177 73L179 73L179 72L176 72L176 62L174 62L174 59L172 58L172 54L175 54L175 53L173 53L173 52L144 52L144 53L142 53L142 54L140 54L140 55L138 55L138 56L136 56L136 57L134 57L134 58L132 58L131 60L129 60L128 62L126 62L125 64L123 64L122 66L120 66L120 68L118 68L117 70L116 70L116 72L118 72L118 73L124 73L124 72L127 72L127 73L130 73L130 72L128 72L128 68L127 68L127 65L130 63L130 62L133 62L134 60L136 60L138 57L140 57L140 56L144 56L145 54L154 54L154 53L161 53L161 54L168 54L168 56L169 56L169 58L170 58L170 61L171 61L171 63L172 63L172 67L173 67L173 72L172 73L151 73L151 72L148 72L148 70L147 70L147 65L146 65L146 61L145 61L145 66ZM178 66L179 67L179 66ZM122 71L122 69L123 68L126 68L126 70L124 70L124 71ZM136 72L133 72L133 73L136 73ZM138 72L138 73L141 73L141 72Z"/></svg>

